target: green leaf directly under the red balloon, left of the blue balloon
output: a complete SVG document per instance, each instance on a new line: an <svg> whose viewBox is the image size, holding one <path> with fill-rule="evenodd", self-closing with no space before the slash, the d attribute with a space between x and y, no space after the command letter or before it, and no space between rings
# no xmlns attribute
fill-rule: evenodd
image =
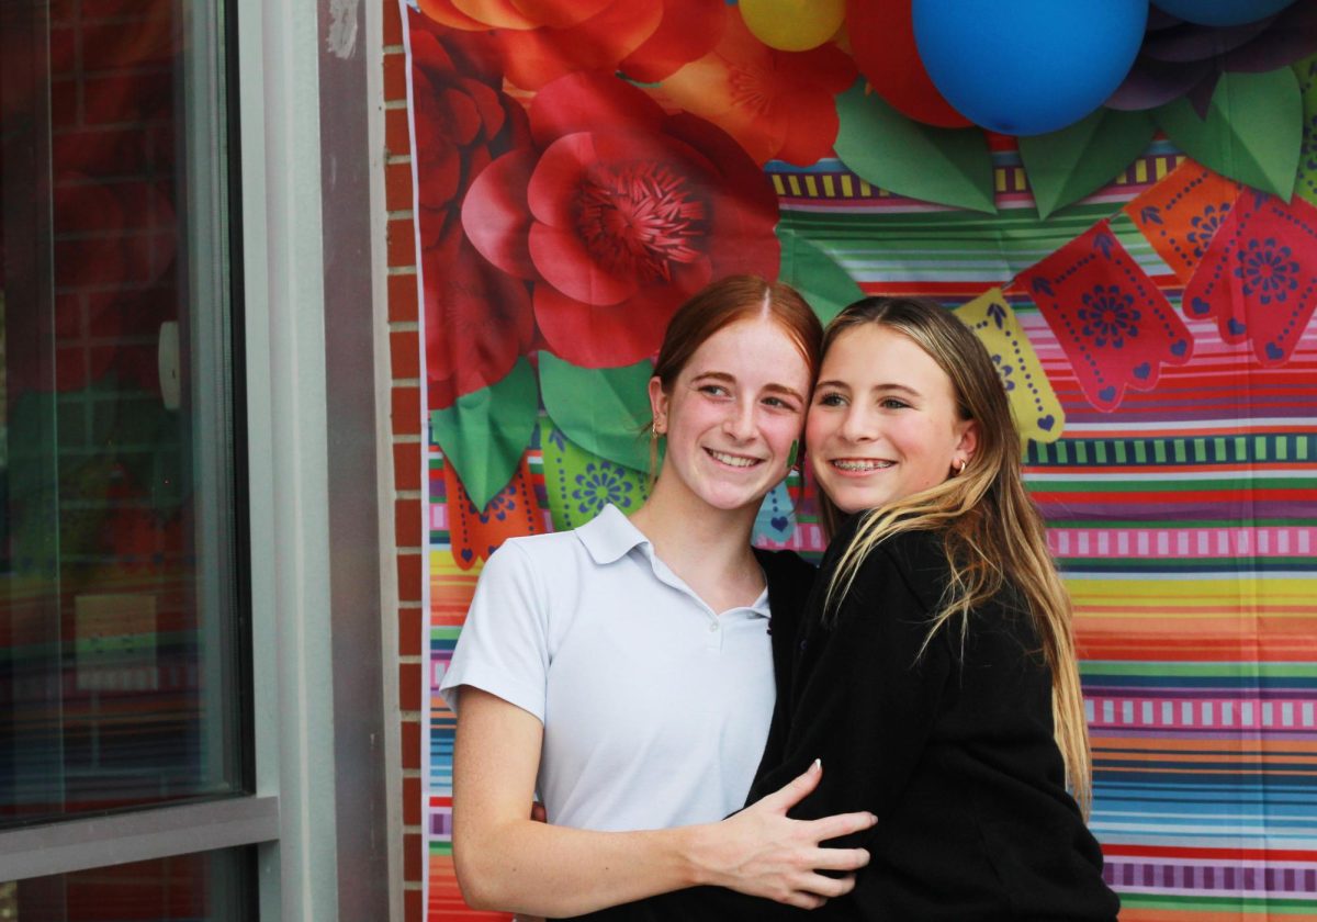
<svg viewBox="0 0 1317 922"><path fill-rule="evenodd" d="M922 202L997 213L979 128L934 128L893 109L861 78L836 97L836 155L861 179Z"/></svg>

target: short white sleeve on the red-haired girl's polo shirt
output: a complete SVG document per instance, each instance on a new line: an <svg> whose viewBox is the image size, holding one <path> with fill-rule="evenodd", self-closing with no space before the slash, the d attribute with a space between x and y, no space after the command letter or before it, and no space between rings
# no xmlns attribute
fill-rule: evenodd
<svg viewBox="0 0 1317 922"><path fill-rule="evenodd" d="M516 541L495 551L475 585L440 694L457 713L470 685L544 723L549 673L548 611L531 555Z"/></svg>

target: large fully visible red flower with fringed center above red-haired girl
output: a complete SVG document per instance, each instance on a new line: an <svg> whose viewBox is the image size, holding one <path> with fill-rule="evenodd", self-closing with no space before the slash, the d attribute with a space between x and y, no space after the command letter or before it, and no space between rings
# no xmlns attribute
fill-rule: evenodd
<svg viewBox="0 0 1317 922"><path fill-rule="evenodd" d="M462 227L486 259L532 283L556 354L630 365L710 279L776 277L777 199L714 125L599 72L548 84L529 115L533 148L477 178Z"/></svg>

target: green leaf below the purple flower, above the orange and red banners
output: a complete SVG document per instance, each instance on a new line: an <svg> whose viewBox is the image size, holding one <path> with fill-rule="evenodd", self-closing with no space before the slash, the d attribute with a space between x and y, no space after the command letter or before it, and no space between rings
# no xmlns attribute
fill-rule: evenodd
<svg viewBox="0 0 1317 922"><path fill-rule="evenodd" d="M1303 99L1289 67L1223 74L1208 117L1185 99L1154 111L1180 150L1217 173L1288 200L1299 171Z"/></svg>

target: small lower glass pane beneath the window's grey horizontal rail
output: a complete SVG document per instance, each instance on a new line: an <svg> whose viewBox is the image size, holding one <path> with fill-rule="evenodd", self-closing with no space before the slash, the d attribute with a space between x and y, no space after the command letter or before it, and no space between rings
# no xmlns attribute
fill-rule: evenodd
<svg viewBox="0 0 1317 922"><path fill-rule="evenodd" d="M252 850L178 855L0 884L13 922L248 922L255 900Z"/></svg>

